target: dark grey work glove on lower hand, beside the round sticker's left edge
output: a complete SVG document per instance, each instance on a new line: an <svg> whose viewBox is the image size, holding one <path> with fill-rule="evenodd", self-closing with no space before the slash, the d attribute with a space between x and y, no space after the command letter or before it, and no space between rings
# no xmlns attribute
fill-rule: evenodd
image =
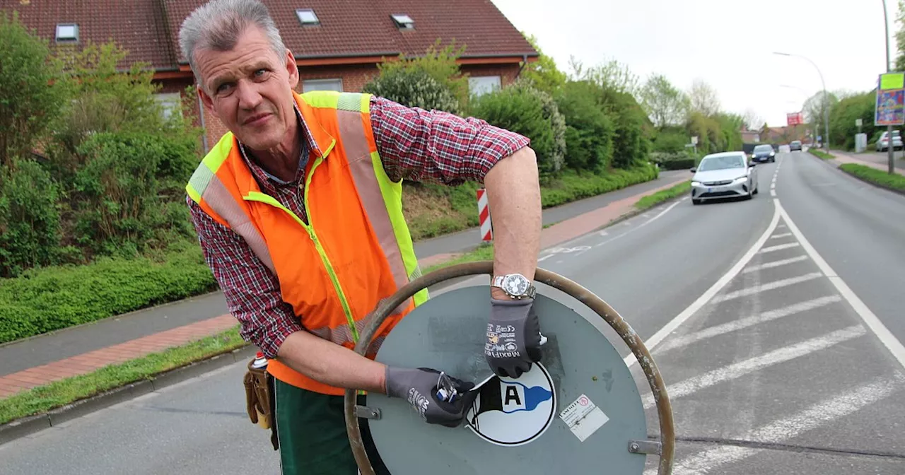
<svg viewBox="0 0 905 475"><path fill-rule="evenodd" d="M465 382L443 374L446 379L443 399L438 398L442 386L441 373L430 368L401 368L386 366L386 395L399 397L412 404L414 411L427 423L458 427L465 419L465 413L472 406L477 391L471 391L473 383ZM450 389L453 389L455 395ZM452 401L450 401L452 399Z"/></svg>

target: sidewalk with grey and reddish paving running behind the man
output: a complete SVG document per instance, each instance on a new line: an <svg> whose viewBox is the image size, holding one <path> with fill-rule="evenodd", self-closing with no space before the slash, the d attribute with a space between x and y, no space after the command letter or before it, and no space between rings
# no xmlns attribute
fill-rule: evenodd
<svg viewBox="0 0 905 475"><path fill-rule="evenodd" d="M557 216L565 218L562 221L544 229L541 232L541 248L548 248L561 242L574 239L582 234L594 231L607 223L618 219L624 214L633 212L634 204L643 196L678 185L688 179L684 174L662 174L666 179L657 180L662 184L652 187L643 187L643 192L627 195L624 190L620 195L627 195L621 199L610 201L604 206L585 213L575 213L566 218L562 210ZM663 183L665 182L665 183ZM638 191L638 190L636 190ZM597 197L599 198L599 197ZM583 200L590 201L590 200ZM583 205L584 208L587 204ZM573 210L581 210L583 207L573 205ZM545 210L545 214L547 210ZM420 260L423 267L449 260L460 252L441 252ZM164 350L168 347L178 347L191 341L220 333L236 325L232 315L219 313L224 309L222 294L214 292L194 299L186 299L183 302L174 302L155 309L133 312L117 318L108 318L90 325L78 328L61 330L50 335L33 337L24 341L13 342L0 346L0 399L16 394L20 391L39 385L46 385L75 375L84 375L100 367L110 364L118 364L130 359L146 356L150 353ZM174 316L179 320L180 312L199 311L198 302L206 302L208 308L217 309L213 318L203 318L194 323L180 325L165 330L149 329L145 325L138 325L138 321L147 318L168 319ZM181 320L180 320L181 321ZM125 329L124 329L125 328ZM141 330L146 329L145 334ZM116 333L118 338L112 345L102 345L103 337L109 337L104 332ZM71 335L78 335L73 338ZM129 339L121 335L128 335ZM90 338L95 336L97 338ZM48 357L53 354L54 345L65 342L68 347L66 353L57 352L57 357ZM81 343L81 344L80 344ZM79 350L80 347L84 349Z"/></svg>

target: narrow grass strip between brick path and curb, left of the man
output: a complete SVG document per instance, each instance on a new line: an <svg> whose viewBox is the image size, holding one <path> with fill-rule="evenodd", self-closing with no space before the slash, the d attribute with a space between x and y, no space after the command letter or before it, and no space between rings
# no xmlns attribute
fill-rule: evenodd
<svg viewBox="0 0 905 475"><path fill-rule="evenodd" d="M95 394L129 383L152 378L165 371L243 347L238 326L183 347L169 348L119 365L104 366L85 375L34 387L0 399L0 423L8 423L37 413L72 404Z"/></svg>

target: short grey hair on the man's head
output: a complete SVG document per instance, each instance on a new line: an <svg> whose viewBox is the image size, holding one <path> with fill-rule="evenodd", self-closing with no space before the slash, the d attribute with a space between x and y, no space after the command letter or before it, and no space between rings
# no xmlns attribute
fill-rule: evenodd
<svg viewBox="0 0 905 475"><path fill-rule="evenodd" d="M195 51L208 49L230 51L248 26L262 29L277 56L286 54L280 30L273 23L267 6L259 0L211 0L186 17L179 28L179 48L195 73L195 81L203 87L203 79L195 63Z"/></svg>

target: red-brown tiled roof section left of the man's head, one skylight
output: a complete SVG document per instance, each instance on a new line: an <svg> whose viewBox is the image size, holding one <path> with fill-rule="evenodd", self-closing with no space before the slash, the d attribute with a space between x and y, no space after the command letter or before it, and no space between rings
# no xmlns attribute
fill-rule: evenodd
<svg viewBox="0 0 905 475"><path fill-rule="evenodd" d="M129 51L123 61L149 62L156 70L176 69L159 0L0 0L5 13L16 11L19 21L54 46L57 24L78 24L79 42L114 40Z"/></svg>

